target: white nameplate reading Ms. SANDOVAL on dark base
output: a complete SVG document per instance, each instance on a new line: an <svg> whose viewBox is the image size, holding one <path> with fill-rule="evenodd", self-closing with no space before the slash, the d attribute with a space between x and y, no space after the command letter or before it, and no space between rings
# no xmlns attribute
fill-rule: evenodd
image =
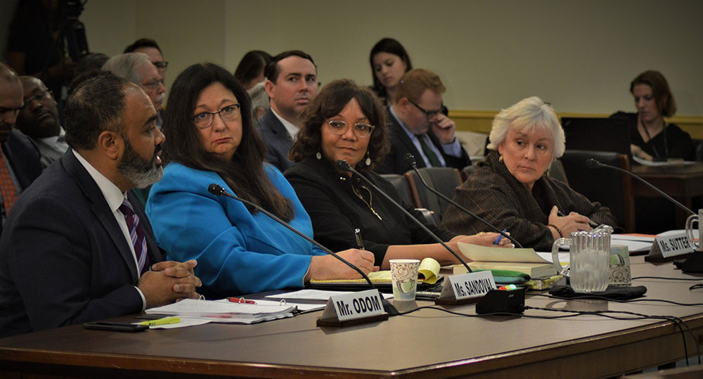
<svg viewBox="0 0 703 379"><path fill-rule="evenodd" d="M490 290L496 289L491 271L449 276L434 304L461 305L479 301Z"/></svg>

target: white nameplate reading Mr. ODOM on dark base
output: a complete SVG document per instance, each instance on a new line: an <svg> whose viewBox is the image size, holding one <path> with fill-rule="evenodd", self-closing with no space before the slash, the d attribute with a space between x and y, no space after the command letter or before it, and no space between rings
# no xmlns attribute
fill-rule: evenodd
<svg viewBox="0 0 703 379"><path fill-rule="evenodd" d="M349 321L380 314L383 314L383 304L378 290L366 290L330 297L321 320Z"/></svg>

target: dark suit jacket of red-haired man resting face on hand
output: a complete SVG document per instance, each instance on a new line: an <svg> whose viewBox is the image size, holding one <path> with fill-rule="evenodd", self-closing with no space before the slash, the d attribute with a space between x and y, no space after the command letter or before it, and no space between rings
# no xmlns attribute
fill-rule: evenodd
<svg viewBox="0 0 703 379"><path fill-rule="evenodd" d="M390 111L386 113L386 118L389 131L389 140L391 141L391 150L388 155L386 155L383 162L375 167L374 171L379 174L400 175L408 172L411 167L407 162L405 162L405 155L407 153L415 155L415 162L417 163L418 168L427 167L422 159L422 156L420 155L420 152L417 148L415 148L415 145L413 145L413 141L411 141L408 134L406 134L403 127L401 127L398 120L393 117ZM464 167L471 165L471 158L469 158L469 155L466 153L464 148L461 148L461 157L446 155L444 153L444 148L442 148L437 136L434 136L434 133L432 133L431 128L427 131L427 135L430 136L430 140L432 140L432 143L434 143L434 146L437 147L437 150L441 153L442 158L444 158L446 167L463 169Z"/></svg>

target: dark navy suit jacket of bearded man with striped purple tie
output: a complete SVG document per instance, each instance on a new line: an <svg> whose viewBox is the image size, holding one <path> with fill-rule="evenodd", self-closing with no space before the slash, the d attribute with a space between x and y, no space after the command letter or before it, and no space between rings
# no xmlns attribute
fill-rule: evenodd
<svg viewBox="0 0 703 379"><path fill-rule="evenodd" d="M150 262L160 262L146 214L129 196ZM107 200L67 153L22 193L0 238L0 337L138 313L137 283Z"/></svg>

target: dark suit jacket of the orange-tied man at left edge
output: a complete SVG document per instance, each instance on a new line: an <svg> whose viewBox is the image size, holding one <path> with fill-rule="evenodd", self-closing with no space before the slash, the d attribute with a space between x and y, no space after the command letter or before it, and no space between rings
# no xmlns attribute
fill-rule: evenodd
<svg viewBox="0 0 703 379"><path fill-rule="evenodd" d="M29 137L16 130L11 131L7 141L2 144L2 151L20 184L20 191L41 175L41 155ZM0 221L0 233L3 226Z"/></svg>

